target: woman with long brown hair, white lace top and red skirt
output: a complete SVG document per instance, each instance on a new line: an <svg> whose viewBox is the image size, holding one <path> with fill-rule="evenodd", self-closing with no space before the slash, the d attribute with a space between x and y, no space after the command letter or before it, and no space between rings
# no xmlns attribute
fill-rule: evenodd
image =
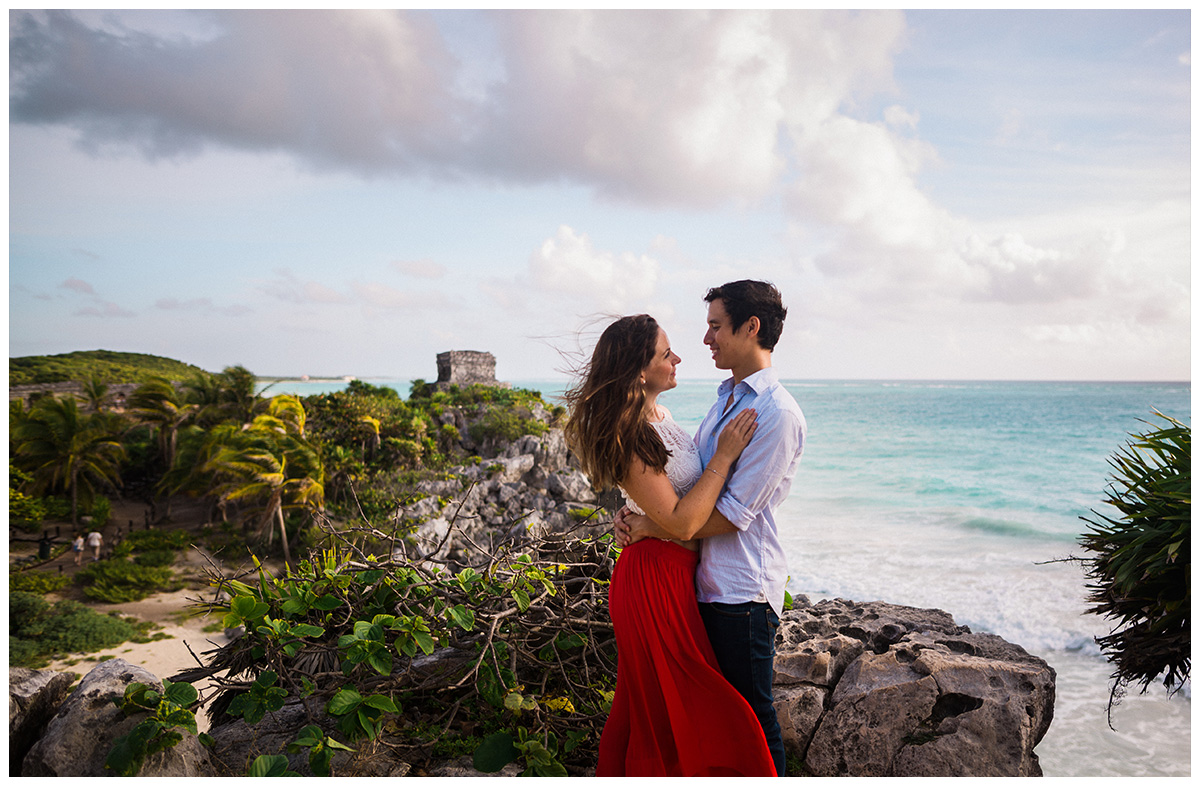
<svg viewBox="0 0 1200 788"><path fill-rule="evenodd" d="M566 393L566 438L598 488L661 523L708 519L755 414L725 428L706 468L691 437L658 404L679 356L654 318L624 317L600 336ZM774 776L750 704L721 675L696 606L698 540L644 539L622 551L608 589L617 692L596 776Z"/></svg>

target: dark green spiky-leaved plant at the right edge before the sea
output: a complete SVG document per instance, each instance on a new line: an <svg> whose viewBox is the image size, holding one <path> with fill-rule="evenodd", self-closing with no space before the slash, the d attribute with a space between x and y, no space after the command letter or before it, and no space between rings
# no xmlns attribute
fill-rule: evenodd
<svg viewBox="0 0 1200 788"><path fill-rule="evenodd" d="M1106 504L1112 518L1093 511L1080 536L1094 554L1085 566L1088 613L1116 621L1097 638L1116 667L1109 708L1129 684L1145 692L1163 676L1175 692L1188 680L1192 652L1192 429L1154 411L1166 426L1132 434L1109 458L1116 471Z"/></svg>

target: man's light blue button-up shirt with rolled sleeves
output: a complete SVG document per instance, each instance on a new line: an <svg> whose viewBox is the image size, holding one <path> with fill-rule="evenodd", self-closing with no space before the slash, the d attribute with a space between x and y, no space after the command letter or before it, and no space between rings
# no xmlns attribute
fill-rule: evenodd
<svg viewBox="0 0 1200 788"><path fill-rule="evenodd" d="M726 410L731 391L733 404ZM738 530L702 541L696 597L701 602L768 602L778 614L784 609L787 557L779 541L775 510L792 488L808 426L773 367L760 369L737 387L728 378L696 433L706 465L716 452L721 429L746 408L757 411L758 428L716 500L716 510Z"/></svg>

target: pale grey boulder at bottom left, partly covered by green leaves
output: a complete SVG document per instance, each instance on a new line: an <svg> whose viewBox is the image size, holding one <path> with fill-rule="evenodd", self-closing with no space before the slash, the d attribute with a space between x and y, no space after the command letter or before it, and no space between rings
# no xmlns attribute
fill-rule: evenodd
<svg viewBox="0 0 1200 788"><path fill-rule="evenodd" d="M125 660L109 660L83 678L25 756L23 777L102 777L113 741L133 729L143 715L125 717L113 704L134 681L162 690L162 681ZM146 777L215 776L209 753L196 736L184 734L174 747L146 758Z"/></svg>

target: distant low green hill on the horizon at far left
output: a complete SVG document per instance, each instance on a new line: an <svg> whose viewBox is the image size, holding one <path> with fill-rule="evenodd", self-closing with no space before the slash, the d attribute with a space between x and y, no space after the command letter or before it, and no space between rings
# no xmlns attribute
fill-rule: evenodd
<svg viewBox="0 0 1200 788"><path fill-rule="evenodd" d="M56 356L8 359L10 386L68 380L142 383L151 375L162 375L168 380L187 380L198 372L203 371L174 359L115 350L77 350Z"/></svg>

